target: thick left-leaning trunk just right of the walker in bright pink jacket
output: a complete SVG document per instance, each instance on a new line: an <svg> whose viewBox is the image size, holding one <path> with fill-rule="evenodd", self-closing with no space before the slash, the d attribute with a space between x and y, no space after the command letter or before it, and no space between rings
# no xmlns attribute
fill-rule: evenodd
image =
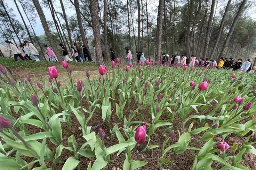
<svg viewBox="0 0 256 170"><path fill-rule="evenodd" d="M60 51L57 48L57 46L56 46L56 44L55 44L55 42L53 40L52 33L50 31L50 28L49 28L49 26L47 24L47 21L46 21L46 18L44 16L44 11L42 10L38 0L33 0L33 3L35 5L35 7L36 7L36 11L37 11L37 13L39 15L39 18L41 20L42 26L44 28L44 33L45 33L45 35L46 35L46 37L47 37L47 39L48 39L48 41L49 41L49 43L50 43L50 45L52 47L52 50L53 50L54 54L56 55L56 57L58 58L58 61L62 62L63 61L63 57L61 57L62 55L60 54Z"/></svg>

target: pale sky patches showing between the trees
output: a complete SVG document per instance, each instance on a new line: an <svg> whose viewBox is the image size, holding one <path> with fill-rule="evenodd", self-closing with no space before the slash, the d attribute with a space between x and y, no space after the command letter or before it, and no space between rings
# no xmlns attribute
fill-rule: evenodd
<svg viewBox="0 0 256 170"><path fill-rule="evenodd" d="M67 16L72 16L72 15L74 15L74 14L76 13L75 7L73 7L73 6L70 7L70 6L71 6L71 3L68 2L68 0L62 0L62 1L63 1L63 4L64 4L64 7L65 7L65 9L66 9L66 14L67 14ZM8 2L8 3L7 3L7 2ZM123 0L123 3L126 4L126 0ZM22 22L22 20L21 20L21 18L20 18L20 15L19 15L19 13L18 13L18 10L17 10L17 8L16 8L16 6L15 6L15 4L14 4L14 2L11 1L11 0L5 0L5 4L7 4L9 8L12 8L12 9L13 9L13 12L16 14L16 18L17 18L20 22ZM149 4L149 8L151 8L151 10L157 11L157 6L158 6L158 4L159 4L159 1L158 1L158 0L148 0L148 4ZM23 12L23 10L22 10L22 8L21 8L21 6L20 6L19 3L18 3L18 5L19 5L19 7L20 7L21 13L23 14L23 18L25 19L25 22L28 23L28 19L26 18L26 16L25 16L25 14L24 14L24 12ZM51 21L52 21L52 15L51 15L50 10L47 9L47 8L44 8L42 5L41 5L41 7L43 8L43 11L44 11L44 15L45 15L45 17L46 17L46 20L51 20ZM220 3L219 3L219 4L217 5L217 11L218 11L221 7L223 7L223 4L220 4ZM58 0L57 0L57 1L54 1L54 8L55 8L56 11L60 11L60 12L62 13L61 6L60 6L60 1L58 1ZM251 17L256 20L256 12L255 12L253 9L252 9L252 10L249 9L249 11L247 11L247 12L251 13ZM103 14L102 14L102 15L103 15ZM137 13L135 13L135 17L137 17L136 15L138 16ZM62 22L64 23L64 20L62 20ZM41 25L41 21L40 21L40 18L39 18L38 16L36 17L36 25L35 25L34 28L35 28L35 32L36 32L37 35L42 35L42 34L44 34L44 29L43 29L43 27L42 27L42 25Z"/></svg>

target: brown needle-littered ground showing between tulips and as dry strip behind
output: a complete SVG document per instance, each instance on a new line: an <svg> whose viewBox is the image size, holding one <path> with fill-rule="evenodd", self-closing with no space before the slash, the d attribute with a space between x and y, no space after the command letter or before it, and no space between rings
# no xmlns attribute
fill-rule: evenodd
<svg viewBox="0 0 256 170"><path fill-rule="evenodd" d="M58 72L59 72L59 76L58 76L58 81L60 81L60 83L62 85L67 85L68 82L68 75L67 75L67 70L64 69L62 67L61 64L55 64ZM77 79L86 79L86 70L89 71L90 73L90 78L99 78L99 72L98 72L98 67L96 65L70 65L72 67L72 78L73 80L76 82ZM17 71L20 76L26 76L26 75L30 75L31 77L31 81L33 83L35 83L36 81L41 81L41 79L44 79L45 82L48 83L48 69L46 66L44 67L33 67L33 68L29 68L29 67L21 67L21 68L14 68L11 69L12 71ZM135 102L135 100L133 100L131 102L131 106L125 106L124 108L124 115L127 117L129 116L130 111L135 110L139 107L140 103ZM114 103L112 103L114 104ZM215 107L216 103L212 103L212 107L209 107L203 114L207 115L211 112L211 110ZM86 101L83 101L83 107L87 110L89 110L89 105ZM111 106L112 108L115 108L115 106ZM173 108L172 108L173 110ZM13 115L15 117L19 117L20 114L19 113L15 113L14 109L12 108L12 112ZM140 113L142 114L143 117L143 122L145 122L146 125L148 125L150 123L151 117L149 117L149 110L148 108L141 108L140 109ZM86 113L85 114L85 119L88 117L88 115ZM218 112L216 114L219 114ZM189 115L197 115L197 113L192 110ZM175 116L174 116L175 117ZM82 137L82 130L79 130L80 128L80 123L78 122L78 120L76 119L75 115L71 115L71 119L72 119L72 125L71 125L71 129L68 129L68 126L65 123L62 123L62 145L64 146L68 146L68 142L67 139L68 137L72 136L72 134L74 134L75 138L76 138L76 142L78 145L78 149L84 144L85 140ZM139 115L135 115L133 120L137 121L139 120L140 117ZM162 119L168 119L166 117L166 113L163 113L162 115ZM106 147L109 147L111 145L117 144L118 140L115 138L111 138L111 134L109 132L108 129L112 129L113 126L115 124L118 124L118 127L124 127L124 122L120 122L119 119L116 116L115 113L115 109L112 113L111 116L111 125L110 127L107 125L107 123L103 123L102 124L102 129L106 129L106 137L104 139L105 145ZM166 147L170 146L171 144L175 144L177 143L178 139L179 139L179 135L178 135L178 130L180 131L180 134L185 133L186 130L188 129L188 126L191 122L193 122L192 119L190 119L186 124L185 127L182 127L182 119L178 119L177 117L174 118L173 123L173 130L175 131L175 135L174 137L172 137L172 139L169 140L168 144L166 145ZM88 123L88 126L95 126L97 124L102 123L102 118L101 118L101 112L99 109L96 109L93 117L91 119L91 121ZM212 124L212 122L208 122L209 125ZM203 125L200 125L199 121L195 121L194 122L194 127L199 128L202 127ZM28 130L32 133L38 133L40 132L40 128L35 128L35 126L30 126L28 125ZM164 156L164 158L172 161L175 165L170 165L170 164L163 164L162 167L159 167L159 158L161 157L162 154L162 145L163 142L165 140L165 138L167 137L166 134L162 135L162 133L164 132L165 128L158 128L156 130L156 133L154 135L151 136L151 141L150 141L150 145L159 145L159 147L154 148L152 150L148 150L146 152L142 152L142 150L147 146L148 141L146 141L144 144L141 144L138 146L137 148L137 153L134 155L134 160L141 160L141 161L146 161L147 164L143 167L141 167L140 169L142 170L161 170L161 169L170 169L170 170L189 170L192 169L193 163L194 163L194 157L192 157L191 155L193 154L197 154L198 151L195 150L186 150L185 152L183 152L182 154L175 154L175 155L171 155L171 151L167 152ZM120 129L120 132L124 135L124 130ZM95 133L98 133L98 129L95 130ZM201 148L204 144L200 143L200 139L202 136L201 133L193 136L193 140L191 140L191 142L189 143L189 146L193 146L193 147L198 147ZM239 146L241 146L244 143L244 140L246 139L246 137L249 136L249 134L247 134L244 137L237 137L236 135L229 135L226 138L226 142L232 146L233 143L237 143ZM215 136L214 141L218 141L221 140L220 139L221 136ZM251 139L251 141L253 141L254 139ZM55 155L56 153L56 148L57 145L54 145L51 143L50 140L47 141L47 146L48 148L52 151L53 155ZM255 146L254 146L255 147ZM239 152L239 149L236 150L236 152L227 152L226 154L231 156L231 155L236 155ZM221 157L222 152L217 152L216 154L220 154L219 156ZM69 152L68 150L63 149L62 154L60 155L60 161L65 162L69 157L74 156L73 153ZM22 159L26 160L27 162L31 162L34 159L31 158L27 158L27 157L22 157ZM123 169L123 162L124 162L125 156L124 154L120 154L119 156L116 156L116 153L113 153L110 155L110 163L108 165L107 169L110 170L117 170L117 168ZM244 154L243 155L243 159L244 161L242 162L242 164L250 169L256 169L256 156L254 154ZM80 162L80 168L85 170L87 169L87 166L89 164L89 162L91 161L92 164L94 162L95 159L92 158L85 158L80 156L79 160L81 160ZM214 162L214 161L213 161ZM229 162L231 163L231 162ZM64 164L64 163L63 163ZM52 162L46 162L46 166L47 167L52 167L54 170L61 170L63 164L56 164L54 165ZM34 167L38 167L39 164L35 164L33 165ZM212 168L214 170L220 169L221 165L219 165L218 163L214 162L212 164ZM105 168L105 170L107 170Z"/></svg>

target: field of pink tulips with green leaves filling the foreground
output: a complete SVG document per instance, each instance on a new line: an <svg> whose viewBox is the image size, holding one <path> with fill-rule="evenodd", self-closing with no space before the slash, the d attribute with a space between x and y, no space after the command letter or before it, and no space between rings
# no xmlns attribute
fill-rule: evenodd
<svg viewBox="0 0 256 170"><path fill-rule="evenodd" d="M117 62L36 81L0 65L1 169L256 169L255 73Z"/></svg>

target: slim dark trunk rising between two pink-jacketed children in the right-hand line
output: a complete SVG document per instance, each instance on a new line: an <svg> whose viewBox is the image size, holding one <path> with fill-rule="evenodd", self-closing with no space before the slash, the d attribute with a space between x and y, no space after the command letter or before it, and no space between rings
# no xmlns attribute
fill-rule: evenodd
<svg viewBox="0 0 256 170"><path fill-rule="evenodd" d="M190 26L192 22L192 12L193 12L193 0L190 0L189 3L189 17L188 17L188 26L187 26L187 32L186 32L186 41L185 41L185 55L189 57L189 45L190 45L190 39L189 39L189 34L190 34Z"/></svg>

